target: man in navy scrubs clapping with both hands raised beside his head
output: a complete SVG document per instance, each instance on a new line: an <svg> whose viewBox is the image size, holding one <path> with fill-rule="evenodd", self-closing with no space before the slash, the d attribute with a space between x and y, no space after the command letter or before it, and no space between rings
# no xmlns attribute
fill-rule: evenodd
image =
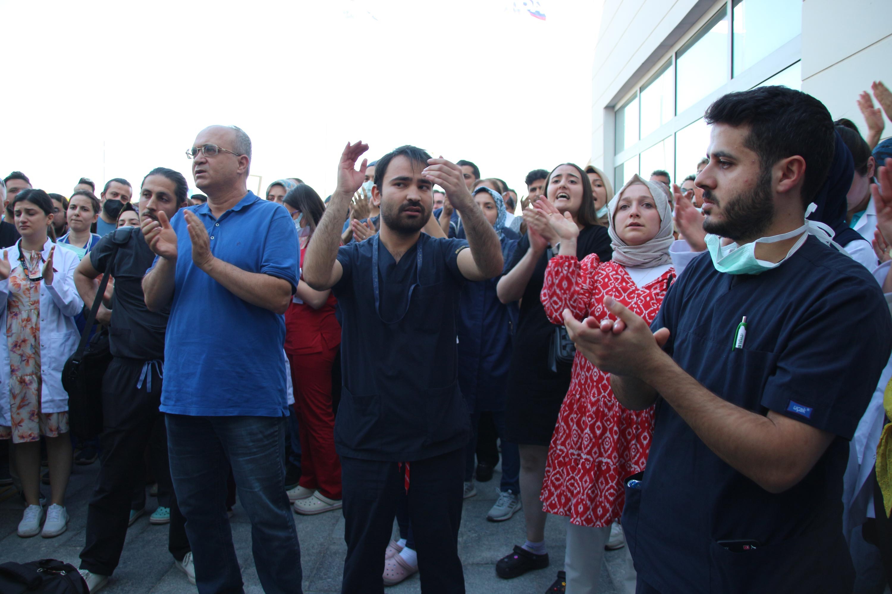
<svg viewBox="0 0 892 594"><path fill-rule="evenodd" d="M403 146L377 161L372 197L381 204L381 231L339 249L366 159L354 167L367 150L362 142L344 149L337 188L303 262L303 279L332 289L343 313L335 420L347 541L342 592L384 591L384 549L401 490L422 591L464 592L458 525L470 427L458 390L456 308L465 280L501 273L500 241L460 167ZM421 232L434 183L461 213L467 241Z"/></svg>

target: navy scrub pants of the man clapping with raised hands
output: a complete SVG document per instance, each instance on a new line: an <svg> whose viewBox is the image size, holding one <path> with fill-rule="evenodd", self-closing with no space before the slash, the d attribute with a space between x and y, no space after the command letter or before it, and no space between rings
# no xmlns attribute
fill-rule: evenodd
<svg viewBox="0 0 892 594"><path fill-rule="evenodd" d="M464 448L409 465L409 519L424 594L462 594L458 526L464 494ZM384 550L393 532L403 472L396 462L341 457L344 540L342 594L384 592Z"/></svg>

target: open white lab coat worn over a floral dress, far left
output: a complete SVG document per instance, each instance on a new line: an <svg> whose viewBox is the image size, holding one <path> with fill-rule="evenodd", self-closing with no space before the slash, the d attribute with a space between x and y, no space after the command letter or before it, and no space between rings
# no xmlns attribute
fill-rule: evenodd
<svg viewBox="0 0 892 594"><path fill-rule="evenodd" d="M50 255L55 244L46 240L43 256ZM12 271L20 267L18 244L7 248ZM40 283L40 365L43 387L40 392L40 411L43 413L68 411L68 393L62 388L62 367L77 350L80 334L74 316L81 312L84 302L74 287L74 269L80 262L77 254L68 249L57 249L53 255L53 285ZM0 281L0 425L10 427L10 369L9 341L6 339L6 304L9 300L9 280Z"/></svg>

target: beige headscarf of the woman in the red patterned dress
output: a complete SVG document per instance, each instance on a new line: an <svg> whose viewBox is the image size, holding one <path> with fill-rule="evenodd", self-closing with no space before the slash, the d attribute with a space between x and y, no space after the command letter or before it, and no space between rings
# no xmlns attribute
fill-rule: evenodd
<svg viewBox="0 0 892 594"><path fill-rule="evenodd" d="M654 201L657 203L657 213L660 216L660 230L654 239L640 246L628 246L616 234L614 218L620 196L623 195L626 188L635 183L641 183L647 187L650 195L653 196ZM610 217L607 232L610 233L610 247L614 250L613 261L616 264L640 268L653 268L661 264L672 264L672 258L669 257L669 248L674 240L672 234L672 207L669 206L669 191L666 190L662 183L648 182L648 180L638 174L632 175L632 178L610 200L607 209Z"/></svg>

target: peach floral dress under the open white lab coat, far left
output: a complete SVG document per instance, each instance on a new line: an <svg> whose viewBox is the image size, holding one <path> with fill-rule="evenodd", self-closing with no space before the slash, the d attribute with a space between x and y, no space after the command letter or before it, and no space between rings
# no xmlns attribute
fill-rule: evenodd
<svg viewBox="0 0 892 594"><path fill-rule="evenodd" d="M0 439L12 443L37 442L40 435L56 437L68 432L68 412L40 411L40 274L39 251L21 250L28 270L18 266L9 277L6 303L6 340L9 344L10 414L12 427L0 427Z"/></svg>

